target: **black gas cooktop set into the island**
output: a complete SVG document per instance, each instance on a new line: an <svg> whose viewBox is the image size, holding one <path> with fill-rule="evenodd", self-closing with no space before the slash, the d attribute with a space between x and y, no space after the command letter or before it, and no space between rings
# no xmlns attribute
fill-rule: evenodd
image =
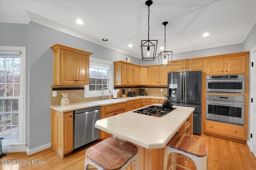
<svg viewBox="0 0 256 170"><path fill-rule="evenodd" d="M155 117L163 117L164 115L170 113L174 109L176 109L176 108L172 107L170 109L166 109L162 106L153 105L153 106L145 107L143 109L138 109L138 110L133 111L133 112L144 114L144 115L155 116Z"/></svg>

